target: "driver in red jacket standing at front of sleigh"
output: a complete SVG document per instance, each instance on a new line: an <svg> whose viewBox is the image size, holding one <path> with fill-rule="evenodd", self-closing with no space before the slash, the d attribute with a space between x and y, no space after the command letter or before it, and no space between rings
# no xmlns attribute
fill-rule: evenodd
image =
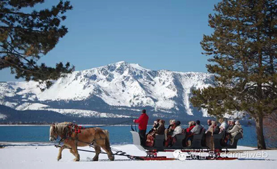
<svg viewBox="0 0 277 169"><path fill-rule="evenodd" d="M134 120L134 123L138 123L138 134L140 134L140 138L141 138L141 144L145 145L145 141L146 141L146 129L147 129L147 123L148 123L148 119L149 117L146 114L146 110L142 110L142 115L138 118Z"/></svg>

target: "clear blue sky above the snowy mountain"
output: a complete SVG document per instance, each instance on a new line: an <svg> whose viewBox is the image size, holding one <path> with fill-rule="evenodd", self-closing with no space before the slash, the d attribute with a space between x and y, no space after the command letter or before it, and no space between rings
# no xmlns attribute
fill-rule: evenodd
<svg viewBox="0 0 277 169"><path fill-rule="evenodd" d="M207 72L200 41L213 31L208 14L218 2L73 0L63 22L69 32L41 62L69 61L75 70L85 70L124 60L151 70ZM57 3L46 0L35 8ZM5 69L0 81L18 80Z"/></svg>

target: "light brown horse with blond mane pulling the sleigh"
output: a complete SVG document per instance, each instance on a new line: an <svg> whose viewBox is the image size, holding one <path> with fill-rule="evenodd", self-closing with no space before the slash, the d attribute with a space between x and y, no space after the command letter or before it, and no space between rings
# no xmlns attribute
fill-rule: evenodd
<svg viewBox="0 0 277 169"><path fill-rule="evenodd" d="M80 155L77 151L77 146L88 146L93 145L95 149L95 156L93 161L98 161L98 156L101 153L101 148L107 152L108 158L113 161L114 156L111 152L110 141L109 141L109 132L101 128L85 128L81 129L80 133L72 132L68 128L71 125L71 122L62 122L57 124L50 125L50 141L54 141L61 137L61 141L64 142L64 145L60 147L58 151L57 160L62 159L62 151L64 149L69 149L75 158L74 161L80 161ZM70 136L68 136L68 134Z"/></svg>

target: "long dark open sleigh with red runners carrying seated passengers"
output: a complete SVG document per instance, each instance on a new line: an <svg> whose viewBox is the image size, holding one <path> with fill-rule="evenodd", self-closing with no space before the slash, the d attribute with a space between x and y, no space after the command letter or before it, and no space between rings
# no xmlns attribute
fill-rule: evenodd
<svg viewBox="0 0 277 169"><path fill-rule="evenodd" d="M164 143L166 141L165 135L156 135L153 146L145 146L142 145L140 135L135 131L130 131L133 138L133 144L137 147L137 149L144 151L147 153L146 157L140 157L143 160L174 160L174 158L167 158L167 157L159 157L157 156L158 152L174 152L175 150L180 150L181 152L210 152L209 147L206 146L205 143L205 129L201 131L200 134L193 135L193 139L191 145L186 145L186 133L176 135L176 142L170 146L165 147ZM220 153L223 149L236 149L238 145L239 139L242 138L242 135L239 133L234 137L234 141L232 145L223 145L222 139L223 134L213 135L214 140L214 154L212 154L213 158L210 155L205 159L214 159L214 160L233 160L237 158L228 158L228 157L221 157Z"/></svg>

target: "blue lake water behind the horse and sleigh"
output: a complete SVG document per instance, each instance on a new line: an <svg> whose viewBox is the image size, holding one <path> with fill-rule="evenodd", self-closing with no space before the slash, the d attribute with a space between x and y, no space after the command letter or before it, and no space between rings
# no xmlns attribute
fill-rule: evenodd
<svg viewBox="0 0 277 169"><path fill-rule="evenodd" d="M85 126L88 127L88 126ZM50 126L0 126L0 142L49 142ZM150 129L151 126L148 126ZM183 126L187 128L187 126ZM207 126L206 126L207 128ZM132 143L131 127L127 126L104 126L110 133L111 144ZM245 126L243 128L244 138L239 140L238 145L256 146L255 127Z"/></svg>

